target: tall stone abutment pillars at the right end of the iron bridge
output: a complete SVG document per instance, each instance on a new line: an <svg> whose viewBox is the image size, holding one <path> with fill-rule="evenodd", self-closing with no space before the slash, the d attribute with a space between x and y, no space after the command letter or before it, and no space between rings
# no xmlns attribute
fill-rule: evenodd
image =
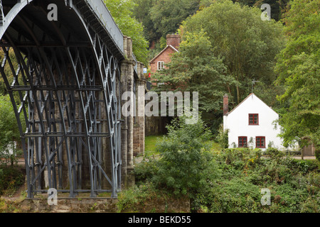
<svg viewBox="0 0 320 227"><path fill-rule="evenodd" d="M136 106L132 115L122 114L122 187L134 184L133 157L144 155L144 97L146 79L144 78L141 62L137 62L137 74L134 74L134 59L132 58L132 39L124 36L124 55L127 59L121 65L121 89L123 92L134 92L136 99L132 97L132 106ZM139 92L139 89L140 90ZM140 103L139 103L140 101ZM122 104L127 101L122 101ZM134 105L135 102L135 105Z"/></svg>

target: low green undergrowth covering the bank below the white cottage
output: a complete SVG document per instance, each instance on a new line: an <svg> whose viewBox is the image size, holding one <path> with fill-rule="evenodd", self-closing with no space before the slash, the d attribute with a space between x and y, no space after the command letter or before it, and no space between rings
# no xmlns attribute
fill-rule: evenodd
<svg viewBox="0 0 320 227"><path fill-rule="evenodd" d="M205 177L197 193L190 196L193 209L221 213L318 213L320 210L317 199L320 162L317 160L295 160L274 148L268 149L265 155L260 149L235 148L213 153L210 165L197 173L210 177ZM144 171L147 177L139 178L139 184L149 184L144 182L158 174L158 167L156 160L142 163L138 175L142 176ZM174 175L171 180L180 182L175 177L181 176ZM154 185L148 187L157 190L156 194L172 193L166 184L156 189ZM262 206L261 189L264 188L270 189L271 204ZM139 196L139 192L134 196Z"/></svg>

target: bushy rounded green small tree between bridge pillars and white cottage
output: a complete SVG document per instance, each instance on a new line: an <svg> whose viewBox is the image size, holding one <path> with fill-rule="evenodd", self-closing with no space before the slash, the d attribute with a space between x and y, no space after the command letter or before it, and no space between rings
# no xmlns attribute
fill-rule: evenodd
<svg viewBox="0 0 320 227"><path fill-rule="evenodd" d="M156 147L161 157L152 180L156 187L176 196L187 195L191 210L199 209L197 196L206 194L216 173L212 153L206 147L210 132L201 118L195 124L187 124L186 116L174 120L167 128L168 134Z"/></svg>

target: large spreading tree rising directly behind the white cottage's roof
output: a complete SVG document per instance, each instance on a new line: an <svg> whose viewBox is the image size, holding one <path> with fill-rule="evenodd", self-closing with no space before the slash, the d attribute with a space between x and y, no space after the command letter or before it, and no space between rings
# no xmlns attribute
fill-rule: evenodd
<svg viewBox="0 0 320 227"><path fill-rule="evenodd" d="M272 84L274 57L284 46L282 24L262 21L261 10L233 1L214 1L183 21L181 34L205 31L213 45L213 55L223 58L227 74L236 81L228 86L239 103L251 92L253 79ZM184 39L184 38L183 38Z"/></svg>

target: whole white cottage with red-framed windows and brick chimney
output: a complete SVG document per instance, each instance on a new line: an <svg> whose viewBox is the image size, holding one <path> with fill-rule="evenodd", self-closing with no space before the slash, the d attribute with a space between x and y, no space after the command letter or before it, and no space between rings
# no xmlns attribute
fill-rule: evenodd
<svg viewBox="0 0 320 227"><path fill-rule="evenodd" d="M223 96L223 130L228 130L229 148L260 148L269 146L284 150L279 126L274 122L279 115L259 99L250 94L232 111L228 111L228 95ZM287 149L286 149L287 150Z"/></svg>

